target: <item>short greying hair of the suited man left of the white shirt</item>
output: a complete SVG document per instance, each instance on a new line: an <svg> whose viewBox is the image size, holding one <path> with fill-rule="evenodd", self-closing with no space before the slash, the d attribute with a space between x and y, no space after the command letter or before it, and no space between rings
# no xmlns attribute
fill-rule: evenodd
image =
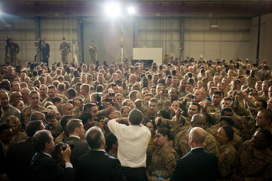
<svg viewBox="0 0 272 181"><path fill-rule="evenodd" d="M91 149L100 148L104 135L102 130L96 126L93 126L86 132L86 140Z"/></svg>

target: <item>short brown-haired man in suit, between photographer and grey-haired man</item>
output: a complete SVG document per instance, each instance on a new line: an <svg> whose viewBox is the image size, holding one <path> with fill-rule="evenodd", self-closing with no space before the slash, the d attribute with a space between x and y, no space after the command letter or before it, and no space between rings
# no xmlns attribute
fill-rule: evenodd
<svg viewBox="0 0 272 181"><path fill-rule="evenodd" d="M73 140L75 148L71 150L70 161L74 165L74 168L77 166L78 158L91 150L89 149L89 144L81 141L84 138L84 126L80 119L71 119L66 125L66 129L70 134L67 141Z"/></svg>

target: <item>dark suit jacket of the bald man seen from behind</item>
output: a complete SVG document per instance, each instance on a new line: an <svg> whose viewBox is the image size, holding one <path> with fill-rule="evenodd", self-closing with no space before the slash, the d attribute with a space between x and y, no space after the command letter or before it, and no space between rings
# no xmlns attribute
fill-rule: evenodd
<svg viewBox="0 0 272 181"><path fill-rule="evenodd" d="M203 148L196 148L178 160L170 181L215 180L217 173L216 156Z"/></svg>

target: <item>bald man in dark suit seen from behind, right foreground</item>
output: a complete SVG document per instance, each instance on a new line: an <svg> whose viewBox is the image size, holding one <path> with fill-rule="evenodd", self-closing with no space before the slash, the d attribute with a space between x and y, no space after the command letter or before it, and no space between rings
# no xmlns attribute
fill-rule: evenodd
<svg viewBox="0 0 272 181"><path fill-rule="evenodd" d="M205 141L205 130L199 127L191 129L189 145L191 151L177 162L170 179L175 180L215 180L217 177L217 158L202 147Z"/></svg>

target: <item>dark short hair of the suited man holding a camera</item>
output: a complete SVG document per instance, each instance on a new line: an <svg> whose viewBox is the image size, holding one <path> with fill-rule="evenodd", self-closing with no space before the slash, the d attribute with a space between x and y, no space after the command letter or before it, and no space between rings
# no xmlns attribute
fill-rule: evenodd
<svg viewBox="0 0 272 181"><path fill-rule="evenodd" d="M40 130L37 131L33 138L32 144L36 150L36 152L42 152L45 149L45 144L51 142L51 132L49 130Z"/></svg>

